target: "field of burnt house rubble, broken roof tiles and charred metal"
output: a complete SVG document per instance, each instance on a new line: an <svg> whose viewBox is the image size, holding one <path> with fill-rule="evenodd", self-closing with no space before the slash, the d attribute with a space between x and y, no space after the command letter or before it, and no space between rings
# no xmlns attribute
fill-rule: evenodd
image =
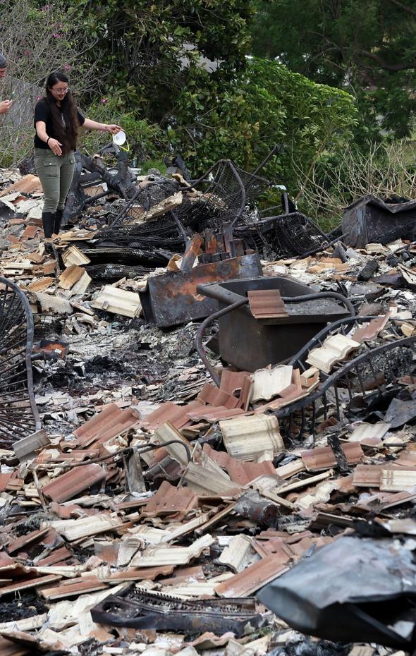
<svg viewBox="0 0 416 656"><path fill-rule="evenodd" d="M48 253L0 171L1 654L414 650L411 231L103 184Z"/></svg>

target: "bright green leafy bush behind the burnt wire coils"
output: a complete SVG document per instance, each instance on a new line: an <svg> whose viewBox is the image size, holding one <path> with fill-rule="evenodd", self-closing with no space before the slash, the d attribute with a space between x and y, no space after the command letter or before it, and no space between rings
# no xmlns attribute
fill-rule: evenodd
<svg viewBox="0 0 416 656"><path fill-rule="evenodd" d="M178 119L172 116L169 132L173 145L198 172L223 157L254 170L274 145L281 145L264 174L292 193L302 190L293 161L302 162L303 171L312 170L324 153L342 150L356 123L348 93L267 59L249 60L232 83L218 84L214 95L211 91L202 79L181 92Z"/></svg>

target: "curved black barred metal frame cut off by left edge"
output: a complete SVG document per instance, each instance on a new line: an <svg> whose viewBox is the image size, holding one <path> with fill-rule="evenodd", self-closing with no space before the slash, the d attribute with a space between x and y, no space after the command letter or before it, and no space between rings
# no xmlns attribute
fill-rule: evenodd
<svg viewBox="0 0 416 656"><path fill-rule="evenodd" d="M23 291L7 278L0 277L0 285L4 286L0 289L0 353L6 354L2 367L8 363L0 372L0 442L13 444L41 427L33 390L34 324ZM20 350L11 353L12 349ZM19 363L25 370L13 372Z"/></svg>

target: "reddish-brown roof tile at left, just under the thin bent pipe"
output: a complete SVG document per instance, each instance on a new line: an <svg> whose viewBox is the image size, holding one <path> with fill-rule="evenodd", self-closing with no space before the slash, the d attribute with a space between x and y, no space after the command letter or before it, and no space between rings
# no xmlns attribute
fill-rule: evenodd
<svg viewBox="0 0 416 656"><path fill-rule="evenodd" d="M73 499L82 490L87 490L88 487L92 487L104 478L106 478L104 468L97 463L91 463L58 476L51 483L42 487L42 493L61 504L68 499Z"/></svg>

